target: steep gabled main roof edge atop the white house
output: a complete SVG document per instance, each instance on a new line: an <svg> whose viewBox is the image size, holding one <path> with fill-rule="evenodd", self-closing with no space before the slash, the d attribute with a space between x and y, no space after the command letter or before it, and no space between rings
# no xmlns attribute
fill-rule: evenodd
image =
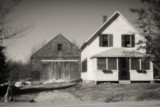
<svg viewBox="0 0 160 107"><path fill-rule="evenodd" d="M108 26L112 24L119 16L121 16L134 30L136 34L139 34L144 40L144 36L142 36L138 30L136 30L131 23L119 12L116 11L87 41L84 42L84 44L81 46L81 49L85 49L85 47L90 44L99 34L101 34Z"/></svg>

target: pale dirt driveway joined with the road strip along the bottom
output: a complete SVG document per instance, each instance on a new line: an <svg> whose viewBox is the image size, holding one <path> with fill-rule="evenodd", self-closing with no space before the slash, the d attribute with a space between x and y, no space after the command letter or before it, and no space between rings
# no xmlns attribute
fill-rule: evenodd
<svg viewBox="0 0 160 107"><path fill-rule="evenodd" d="M32 98L35 99L35 102L0 103L0 107L159 107L160 106L160 101L118 102L118 103L105 103L105 102L98 103L92 101L82 101L73 96L70 92L63 90L40 92L39 94L32 95Z"/></svg>

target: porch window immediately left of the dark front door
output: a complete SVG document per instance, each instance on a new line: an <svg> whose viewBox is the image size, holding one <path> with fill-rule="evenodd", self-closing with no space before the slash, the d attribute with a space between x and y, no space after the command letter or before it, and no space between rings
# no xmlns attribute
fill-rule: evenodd
<svg viewBox="0 0 160 107"><path fill-rule="evenodd" d="M108 58L108 69L117 70L117 58Z"/></svg>

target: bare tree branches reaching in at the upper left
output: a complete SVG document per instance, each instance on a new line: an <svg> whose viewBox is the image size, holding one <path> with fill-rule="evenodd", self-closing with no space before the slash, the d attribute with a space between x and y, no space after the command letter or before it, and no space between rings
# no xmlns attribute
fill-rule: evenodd
<svg viewBox="0 0 160 107"><path fill-rule="evenodd" d="M33 25L24 25L20 27L12 27L10 24L13 20L9 15L14 11L14 7L22 0L0 0L0 41L1 46L3 40L18 38L24 35L25 31Z"/></svg>

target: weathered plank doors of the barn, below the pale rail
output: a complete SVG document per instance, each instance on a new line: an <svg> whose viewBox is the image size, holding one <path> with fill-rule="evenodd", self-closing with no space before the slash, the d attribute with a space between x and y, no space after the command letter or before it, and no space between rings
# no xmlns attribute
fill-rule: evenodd
<svg viewBox="0 0 160 107"><path fill-rule="evenodd" d="M52 80L74 80L80 77L79 66L77 62L50 62L45 67L47 79Z"/></svg>

